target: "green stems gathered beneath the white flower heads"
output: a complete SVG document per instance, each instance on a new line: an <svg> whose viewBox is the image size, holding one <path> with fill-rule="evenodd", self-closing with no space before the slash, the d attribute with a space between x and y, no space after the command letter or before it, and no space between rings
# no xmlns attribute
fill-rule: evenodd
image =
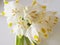
<svg viewBox="0 0 60 45"><path fill-rule="evenodd" d="M26 41L26 45L31 45L31 42L25 36L22 36L21 38L19 36L16 36L16 45L25 45L24 40ZM34 44L36 45L36 43Z"/></svg>

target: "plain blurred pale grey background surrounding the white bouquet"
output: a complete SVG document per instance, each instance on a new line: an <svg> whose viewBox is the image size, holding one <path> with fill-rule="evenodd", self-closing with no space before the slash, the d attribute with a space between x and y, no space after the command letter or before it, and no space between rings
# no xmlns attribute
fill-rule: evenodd
<svg viewBox="0 0 60 45"><path fill-rule="evenodd" d="M11 0L10 0L11 1ZM40 4L46 4L47 10L57 11L60 18L60 0L37 0ZM21 4L29 5L32 0L21 0ZM4 10L3 0L0 0L0 12ZM15 45L15 35L8 28L6 17L0 16L0 45ZM60 20L55 27L53 34L48 40L44 40L41 45L60 45Z"/></svg>

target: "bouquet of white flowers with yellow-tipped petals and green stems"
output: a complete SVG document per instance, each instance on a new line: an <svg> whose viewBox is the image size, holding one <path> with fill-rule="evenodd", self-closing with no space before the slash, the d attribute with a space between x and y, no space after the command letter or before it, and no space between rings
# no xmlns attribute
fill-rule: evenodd
<svg viewBox="0 0 60 45"><path fill-rule="evenodd" d="M2 15L16 34L16 45L40 45L58 22L56 12L46 11L46 5L40 5L36 0L30 6L23 6L19 0L4 0Z"/></svg>

